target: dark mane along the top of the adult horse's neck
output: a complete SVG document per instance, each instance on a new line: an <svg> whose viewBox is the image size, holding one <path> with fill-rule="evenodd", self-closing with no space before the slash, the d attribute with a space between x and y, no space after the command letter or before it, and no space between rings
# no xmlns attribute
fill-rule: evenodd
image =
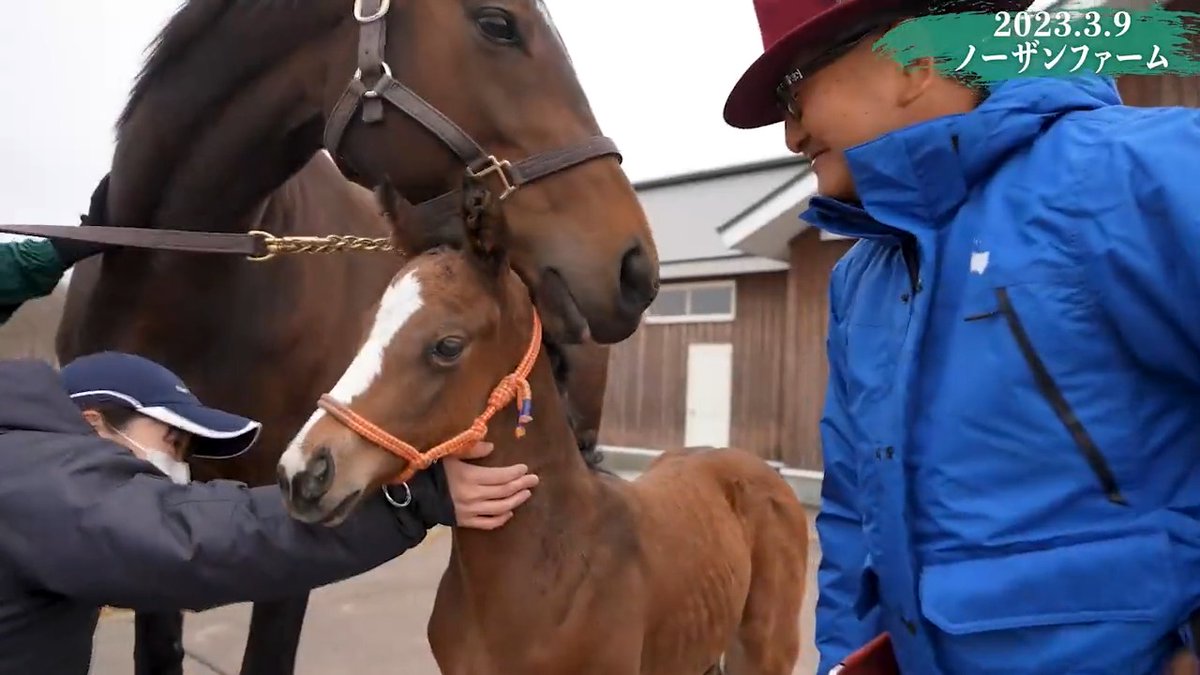
<svg viewBox="0 0 1200 675"><path fill-rule="evenodd" d="M346 2L329 0L187 0L155 37L118 130L146 91L160 86L156 117L186 132L271 64L349 14ZM184 72L187 77L180 77Z"/></svg>

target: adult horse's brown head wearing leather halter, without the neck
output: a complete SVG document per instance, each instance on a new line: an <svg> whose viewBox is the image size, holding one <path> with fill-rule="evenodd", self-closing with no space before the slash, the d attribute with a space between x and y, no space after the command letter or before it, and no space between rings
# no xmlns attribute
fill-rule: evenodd
<svg viewBox="0 0 1200 675"><path fill-rule="evenodd" d="M358 65L371 84L336 92L326 147L352 175L368 185L388 177L414 203L457 187L464 171L479 174L514 223L511 263L558 319L556 338L577 342L588 328L602 344L629 336L655 297L658 252L545 0L360 1L365 13L390 13L362 24ZM380 58L364 56L377 34ZM360 98L367 90L383 94ZM355 114L338 112L355 100ZM434 235L456 243L461 232Z"/></svg>

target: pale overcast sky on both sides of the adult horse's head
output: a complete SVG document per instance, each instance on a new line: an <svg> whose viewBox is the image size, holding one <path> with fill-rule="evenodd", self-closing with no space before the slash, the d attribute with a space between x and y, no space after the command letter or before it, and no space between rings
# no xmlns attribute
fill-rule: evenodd
<svg viewBox="0 0 1200 675"><path fill-rule="evenodd" d="M634 180L786 154L780 125L721 108L761 52L750 0L547 0L601 129ZM179 0L0 2L0 221L74 225L113 124ZM706 11L701 7L712 7Z"/></svg>

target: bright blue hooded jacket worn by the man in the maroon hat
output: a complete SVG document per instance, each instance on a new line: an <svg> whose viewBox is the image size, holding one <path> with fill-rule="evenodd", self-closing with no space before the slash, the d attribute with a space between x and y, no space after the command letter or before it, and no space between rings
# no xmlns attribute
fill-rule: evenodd
<svg viewBox="0 0 1200 675"><path fill-rule="evenodd" d="M1200 110L1010 80L847 153L816 639L1160 673L1200 604Z"/></svg>

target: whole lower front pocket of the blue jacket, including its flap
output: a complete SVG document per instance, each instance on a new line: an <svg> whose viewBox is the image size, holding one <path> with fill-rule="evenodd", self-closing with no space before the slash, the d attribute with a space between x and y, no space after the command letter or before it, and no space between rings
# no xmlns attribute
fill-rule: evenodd
<svg viewBox="0 0 1200 675"><path fill-rule="evenodd" d="M946 675L1162 673L1180 589L1165 533L932 566L922 613Z"/></svg>

